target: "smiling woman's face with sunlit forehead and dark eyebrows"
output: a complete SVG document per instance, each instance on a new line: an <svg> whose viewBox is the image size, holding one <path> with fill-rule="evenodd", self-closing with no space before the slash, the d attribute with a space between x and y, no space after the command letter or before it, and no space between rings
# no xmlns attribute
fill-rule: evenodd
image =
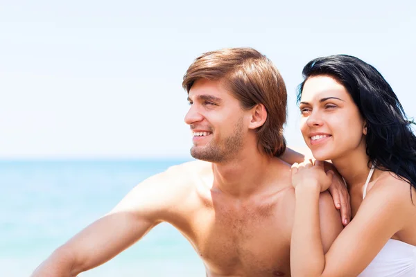
<svg viewBox="0 0 416 277"><path fill-rule="evenodd" d="M300 129L315 159L345 157L365 146L365 122L345 87L335 79L318 75L306 80L300 111Z"/></svg>

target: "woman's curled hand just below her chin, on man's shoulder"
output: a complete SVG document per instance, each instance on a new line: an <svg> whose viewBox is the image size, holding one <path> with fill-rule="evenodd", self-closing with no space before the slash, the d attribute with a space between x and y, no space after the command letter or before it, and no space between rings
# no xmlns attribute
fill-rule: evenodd
<svg viewBox="0 0 416 277"><path fill-rule="evenodd" d="M313 165L311 161L303 163L293 163L292 166L292 186L318 186L320 191L325 191L331 186L333 172L329 170L325 172L324 163L315 161Z"/></svg>

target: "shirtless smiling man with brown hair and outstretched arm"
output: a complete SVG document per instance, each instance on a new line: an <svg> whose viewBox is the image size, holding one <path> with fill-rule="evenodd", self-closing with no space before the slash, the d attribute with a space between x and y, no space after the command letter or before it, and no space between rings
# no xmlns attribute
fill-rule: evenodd
<svg viewBox="0 0 416 277"><path fill-rule="evenodd" d="M279 72L252 48L224 49L198 57L183 86L191 105L185 116L191 155L200 161L143 181L33 276L76 276L160 222L191 242L207 276L290 276L295 195L291 166L277 158L286 150L286 88ZM328 193L320 213L327 251L343 227Z"/></svg>

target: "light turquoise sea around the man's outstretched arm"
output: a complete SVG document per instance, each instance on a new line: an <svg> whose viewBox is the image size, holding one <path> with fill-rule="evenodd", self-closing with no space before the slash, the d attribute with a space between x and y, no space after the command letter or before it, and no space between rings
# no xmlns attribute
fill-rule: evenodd
<svg viewBox="0 0 416 277"><path fill-rule="evenodd" d="M0 276L29 276L140 181L182 162L1 161ZM159 224L116 258L80 276L205 276L205 269L173 226Z"/></svg>

